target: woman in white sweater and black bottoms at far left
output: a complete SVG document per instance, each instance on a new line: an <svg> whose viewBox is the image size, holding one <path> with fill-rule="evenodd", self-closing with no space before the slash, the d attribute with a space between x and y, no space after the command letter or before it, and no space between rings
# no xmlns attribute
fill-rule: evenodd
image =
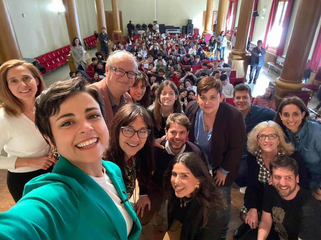
<svg viewBox="0 0 321 240"><path fill-rule="evenodd" d="M34 124L35 99L44 89L42 75L31 63L9 60L0 67L0 149L8 154L0 156L0 169L8 169L7 186L15 202L29 180L51 172L56 162Z"/></svg>

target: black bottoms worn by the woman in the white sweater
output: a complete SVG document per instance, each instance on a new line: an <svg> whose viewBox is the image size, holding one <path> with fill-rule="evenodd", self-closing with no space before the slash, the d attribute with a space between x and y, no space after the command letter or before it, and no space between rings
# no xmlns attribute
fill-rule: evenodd
<svg viewBox="0 0 321 240"><path fill-rule="evenodd" d="M53 166L49 167L47 170L39 169L32 172L10 172L7 173L7 186L13 200L18 202L22 198L22 193L24 185L31 179L38 177L47 172L51 172Z"/></svg>

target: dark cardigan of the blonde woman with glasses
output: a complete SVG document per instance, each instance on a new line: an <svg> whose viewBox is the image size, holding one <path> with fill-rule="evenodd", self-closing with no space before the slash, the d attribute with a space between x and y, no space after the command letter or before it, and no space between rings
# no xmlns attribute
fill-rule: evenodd
<svg viewBox="0 0 321 240"><path fill-rule="evenodd" d="M299 186L309 189L309 175L307 167L297 151L295 151L291 157L295 159L299 165ZM261 210L266 184L263 184L258 180L257 177L260 172L260 166L257 164L256 156L253 156L250 153L247 155L247 169L248 180L244 195L244 206L247 210L250 208Z"/></svg>

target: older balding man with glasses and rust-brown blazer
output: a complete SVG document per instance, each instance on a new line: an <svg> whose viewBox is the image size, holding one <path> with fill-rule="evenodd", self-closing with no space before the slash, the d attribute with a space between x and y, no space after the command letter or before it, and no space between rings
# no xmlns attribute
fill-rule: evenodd
<svg viewBox="0 0 321 240"><path fill-rule="evenodd" d="M104 100L108 125L120 106L133 101L127 91L133 86L137 72L138 65L132 54L126 51L114 51L106 63L107 76L100 82L92 84L99 89Z"/></svg>

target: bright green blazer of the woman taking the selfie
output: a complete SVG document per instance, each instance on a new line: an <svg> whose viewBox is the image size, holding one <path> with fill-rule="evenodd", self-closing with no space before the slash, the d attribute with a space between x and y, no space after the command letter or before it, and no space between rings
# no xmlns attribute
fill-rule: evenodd
<svg viewBox="0 0 321 240"><path fill-rule="evenodd" d="M128 237L124 217L105 190L61 156L51 173L30 180L22 199L0 213L0 239L137 239L141 225L125 202L120 169L102 164L134 221Z"/></svg>

